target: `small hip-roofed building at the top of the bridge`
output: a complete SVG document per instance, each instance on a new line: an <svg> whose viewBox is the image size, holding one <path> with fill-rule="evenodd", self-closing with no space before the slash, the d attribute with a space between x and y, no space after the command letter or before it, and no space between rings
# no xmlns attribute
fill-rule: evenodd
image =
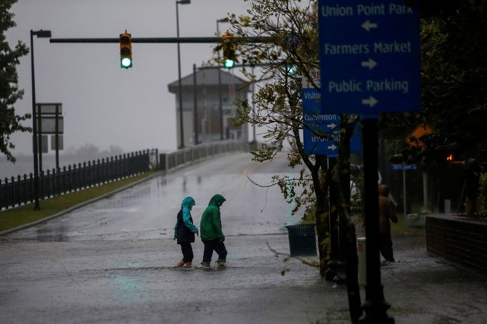
<svg viewBox="0 0 487 324"><path fill-rule="evenodd" d="M196 71L196 111L198 121L198 141L209 142L221 139L219 109L218 69ZM181 143L179 123L179 83L169 83L169 92L176 95L176 131L178 146ZM184 145L194 145L194 74L181 78L183 93ZM236 98L247 98L249 88L243 79L229 72L221 71L221 107L223 111L224 139L248 141L248 127L234 126L232 117L236 115Z"/></svg>

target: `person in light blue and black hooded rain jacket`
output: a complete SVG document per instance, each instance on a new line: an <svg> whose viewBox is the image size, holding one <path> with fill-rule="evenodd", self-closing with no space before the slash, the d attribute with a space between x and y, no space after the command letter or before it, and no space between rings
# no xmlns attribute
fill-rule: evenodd
<svg viewBox="0 0 487 324"><path fill-rule="evenodd" d="M195 205L192 197L186 197L181 203L181 209L179 210L176 227L174 228L174 240L181 245L181 252L183 258L176 263L176 267L191 268L191 262L193 261L193 248L191 243L194 243L194 234L199 235L198 228L193 223L191 217L191 208Z"/></svg>

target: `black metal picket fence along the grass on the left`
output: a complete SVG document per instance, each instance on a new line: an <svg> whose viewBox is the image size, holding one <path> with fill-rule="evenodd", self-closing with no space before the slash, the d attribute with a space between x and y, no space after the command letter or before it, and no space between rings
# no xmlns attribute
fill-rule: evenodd
<svg viewBox="0 0 487 324"><path fill-rule="evenodd" d="M73 164L39 173L39 198L50 198L103 183L136 176L157 168L158 152L144 150L109 158ZM155 161L154 161L155 160ZM0 179L0 210L34 201L34 176Z"/></svg>

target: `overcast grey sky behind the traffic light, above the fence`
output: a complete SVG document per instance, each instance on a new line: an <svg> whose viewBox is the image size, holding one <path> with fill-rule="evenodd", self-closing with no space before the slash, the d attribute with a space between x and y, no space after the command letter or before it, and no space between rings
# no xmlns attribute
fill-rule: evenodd
<svg viewBox="0 0 487 324"><path fill-rule="evenodd" d="M17 26L7 31L30 46L29 31L46 29L53 38L176 36L174 0L19 0L12 7ZM180 36L214 36L216 19L244 14L243 0L191 0L179 5ZM225 30L228 24L220 24ZM181 75L211 58L211 44L181 44ZM60 102L64 109L64 147L93 143L124 151L176 143L176 98L167 90L177 72L176 44L134 44L132 69L121 69L119 44L50 44L34 39L36 101ZM18 67L24 99L17 113L31 112L30 54ZM31 125L31 121L26 124ZM31 153L31 135L16 134L15 153Z"/></svg>

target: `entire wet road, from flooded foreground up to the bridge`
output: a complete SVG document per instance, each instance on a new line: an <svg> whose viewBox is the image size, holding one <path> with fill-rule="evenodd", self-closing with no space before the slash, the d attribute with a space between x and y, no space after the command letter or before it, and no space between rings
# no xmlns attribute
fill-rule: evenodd
<svg viewBox="0 0 487 324"><path fill-rule="evenodd" d="M0 323L348 323L345 287L268 248L287 253L283 225L297 219L246 176L274 172L293 174L283 157L223 156L0 238ZM179 202L194 196L199 224L214 193L227 198L228 268L202 270L198 238L196 267L174 268ZM396 323L487 323L485 278L428 256L423 235L393 242L398 262L381 273Z"/></svg>

